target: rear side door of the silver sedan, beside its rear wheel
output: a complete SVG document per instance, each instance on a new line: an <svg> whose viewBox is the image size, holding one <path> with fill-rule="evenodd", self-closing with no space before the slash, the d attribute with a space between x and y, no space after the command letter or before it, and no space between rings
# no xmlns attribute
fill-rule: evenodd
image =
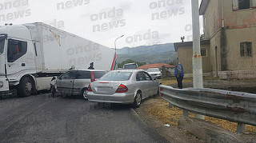
<svg viewBox="0 0 256 143"><path fill-rule="evenodd" d="M148 83L146 81L145 74L141 71L136 75L136 81L138 82L138 88L142 90L142 98L146 98L149 95Z"/></svg>

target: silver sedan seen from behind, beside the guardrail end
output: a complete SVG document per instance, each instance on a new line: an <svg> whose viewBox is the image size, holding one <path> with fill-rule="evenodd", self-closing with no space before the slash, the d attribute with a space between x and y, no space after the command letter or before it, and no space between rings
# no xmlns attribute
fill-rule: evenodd
<svg viewBox="0 0 256 143"><path fill-rule="evenodd" d="M144 70L114 70L88 86L89 101L141 105L142 99L157 94L159 81Z"/></svg>

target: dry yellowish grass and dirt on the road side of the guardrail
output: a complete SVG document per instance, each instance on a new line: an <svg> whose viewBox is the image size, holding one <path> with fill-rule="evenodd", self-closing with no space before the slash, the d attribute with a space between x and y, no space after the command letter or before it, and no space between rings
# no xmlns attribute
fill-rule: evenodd
<svg viewBox="0 0 256 143"><path fill-rule="evenodd" d="M168 102L164 101L161 97L146 99L135 111L146 124L150 125L170 142L205 142L186 130L177 127L178 118L182 116L182 109L176 107L170 109ZM194 113L190 113L190 117L194 117ZM217 126L221 126L223 129L228 129L233 132L235 132L237 126L236 123L216 119L214 117L206 117L206 121L210 121ZM166 124L170 126L167 127L165 126ZM245 142L254 142L256 140L256 127L246 125L246 133L239 134L238 136L242 137Z"/></svg>

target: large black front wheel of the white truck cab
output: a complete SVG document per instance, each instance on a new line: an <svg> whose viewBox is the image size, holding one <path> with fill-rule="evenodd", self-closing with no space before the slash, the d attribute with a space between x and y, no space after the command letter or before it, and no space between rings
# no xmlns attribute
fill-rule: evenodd
<svg viewBox="0 0 256 143"><path fill-rule="evenodd" d="M23 77L18 85L18 93L20 97L28 97L31 95L33 89L33 82L30 77Z"/></svg>

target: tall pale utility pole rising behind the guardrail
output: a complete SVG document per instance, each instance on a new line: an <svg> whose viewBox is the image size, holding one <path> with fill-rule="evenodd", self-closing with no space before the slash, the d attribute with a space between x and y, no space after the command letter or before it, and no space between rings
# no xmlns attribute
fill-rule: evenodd
<svg viewBox="0 0 256 143"><path fill-rule="evenodd" d="M194 88L202 89L202 56L200 48L200 28L198 0L191 0L192 26L193 26L193 84ZM196 114L197 118L204 120L205 116Z"/></svg>

